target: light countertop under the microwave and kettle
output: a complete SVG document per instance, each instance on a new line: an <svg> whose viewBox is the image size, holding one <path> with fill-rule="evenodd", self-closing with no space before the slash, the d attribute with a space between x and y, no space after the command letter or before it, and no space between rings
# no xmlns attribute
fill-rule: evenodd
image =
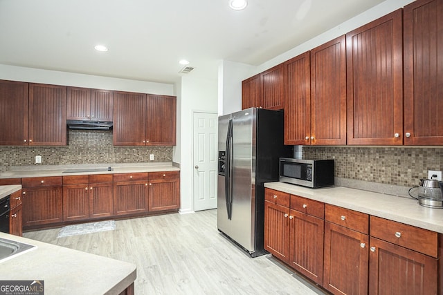
<svg viewBox="0 0 443 295"><path fill-rule="evenodd" d="M443 234L443 209L420 206L417 200L410 197L347 187L309 189L284 182L268 182L264 187Z"/></svg>

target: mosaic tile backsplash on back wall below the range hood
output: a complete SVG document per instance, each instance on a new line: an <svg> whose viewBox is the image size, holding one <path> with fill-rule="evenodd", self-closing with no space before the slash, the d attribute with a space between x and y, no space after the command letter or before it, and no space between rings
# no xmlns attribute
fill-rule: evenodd
<svg viewBox="0 0 443 295"><path fill-rule="evenodd" d="M42 164L35 164L36 155L42 156ZM69 130L68 146L0 146L0 171L23 165L168 161L172 146L113 146L112 131Z"/></svg>

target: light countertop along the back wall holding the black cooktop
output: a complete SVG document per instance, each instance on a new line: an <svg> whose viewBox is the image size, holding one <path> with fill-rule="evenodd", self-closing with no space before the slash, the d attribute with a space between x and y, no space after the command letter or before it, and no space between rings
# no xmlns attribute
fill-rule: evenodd
<svg viewBox="0 0 443 295"><path fill-rule="evenodd" d="M75 172L64 173L71 169L89 169L103 168L111 166L113 171L98 172ZM137 172L156 172L156 171L180 171L179 167L172 162L153 162L153 163L118 163L118 164L72 164L72 165L32 165L32 166L13 166L8 171L1 172L0 178L32 178L43 176L67 176L67 175L91 175L91 174L115 174L115 173L137 173Z"/></svg>

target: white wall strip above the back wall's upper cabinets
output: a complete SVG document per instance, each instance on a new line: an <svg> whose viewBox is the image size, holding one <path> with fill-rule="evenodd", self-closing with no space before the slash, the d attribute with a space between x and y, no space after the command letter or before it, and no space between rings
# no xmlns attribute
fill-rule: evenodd
<svg viewBox="0 0 443 295"><path fill-rule="evenodd" d="M174 95L173 84L118 79L0 64L0 79L116 91Z"/></svg>

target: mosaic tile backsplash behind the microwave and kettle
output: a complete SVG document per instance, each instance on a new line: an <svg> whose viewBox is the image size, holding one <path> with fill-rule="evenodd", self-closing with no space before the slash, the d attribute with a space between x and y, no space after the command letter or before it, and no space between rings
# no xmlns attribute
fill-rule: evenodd
<svg viewBox="0 0 443 295"><path fill-rule="evenodd" d="M303 159L334 159L334 176L413 187L443 170L443 147L303 146Z"/></svg>

